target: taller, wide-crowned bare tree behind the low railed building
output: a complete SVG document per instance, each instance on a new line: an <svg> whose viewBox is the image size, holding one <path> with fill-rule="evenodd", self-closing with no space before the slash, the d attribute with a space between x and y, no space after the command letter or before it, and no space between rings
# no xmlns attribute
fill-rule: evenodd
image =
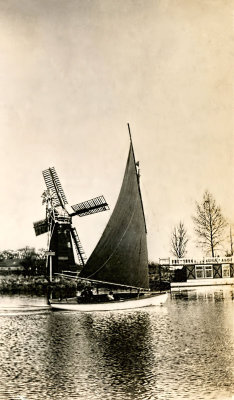
<svg viewBox="0 0 234 400"><path fill-rule="evenodd" d="M221 208L217 206L213 196L206 191L201 204L196 203L196 216L193 217L195 232L198 236L198 244L206 252L211 252L212 257L215 250L224 240L224 228L227 223L222 215Z"/></svg>

